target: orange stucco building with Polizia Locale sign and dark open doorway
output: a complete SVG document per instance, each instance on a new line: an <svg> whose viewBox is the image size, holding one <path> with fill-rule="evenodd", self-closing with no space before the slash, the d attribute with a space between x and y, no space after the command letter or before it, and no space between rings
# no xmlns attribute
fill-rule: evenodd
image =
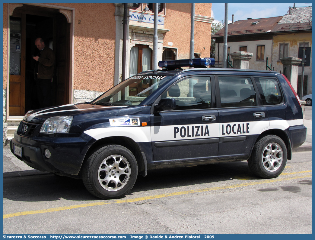
<svg viewBox="0 0 315 240"><path fill-rule="evenodd" d="M189 58L191 3L159 3L157 60ZM129 3L126 78L152 66L152 4ZM121 81L122 3L3 3L3 122L36 108L34 41L53 49L51 105L91 101ZM211 3L195 3L194 52L210 56Z"/></svg>

